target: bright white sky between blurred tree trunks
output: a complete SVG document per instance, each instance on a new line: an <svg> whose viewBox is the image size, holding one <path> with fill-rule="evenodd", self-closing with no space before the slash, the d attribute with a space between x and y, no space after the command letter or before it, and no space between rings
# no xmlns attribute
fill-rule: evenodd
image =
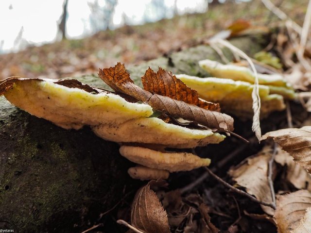
<svg viewBox="0 0 311 233"><path fill-rule="evenodd" d="M69 0L67 35L81 38L92 33L89 16L91 11L87 2L94 0ZM114 27L122 25L125 14L131 24L142 24L144 14L152 21L159 15L150 6L151 0L118 0L113 15ZM173 16L174 0L164 0L168 7L166 17ZM104 0L99 0L104 5ZM149 5L148 5L149 4ZM177 0L179 14L204 12L205 0ZM12 7L11 7L12 6ZM63 0L0 0L0 51L18 50L14 41L23 27L22 38L31 44L52 42L58 30L57 20L62 15ZM1 41L2 48L1 48Z"/></svg>

